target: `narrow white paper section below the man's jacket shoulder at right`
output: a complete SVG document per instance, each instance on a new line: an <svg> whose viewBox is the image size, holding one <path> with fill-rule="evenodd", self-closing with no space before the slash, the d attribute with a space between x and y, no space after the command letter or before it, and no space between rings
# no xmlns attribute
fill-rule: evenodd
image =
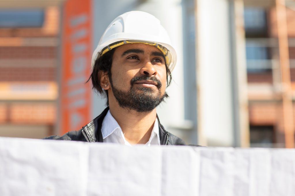
<svg viewBox="0 0 295 196"><path fill-rule="evenodd" d="M161 149L161 195L198 195L200 151L187 146L167 146Z"/></svg>

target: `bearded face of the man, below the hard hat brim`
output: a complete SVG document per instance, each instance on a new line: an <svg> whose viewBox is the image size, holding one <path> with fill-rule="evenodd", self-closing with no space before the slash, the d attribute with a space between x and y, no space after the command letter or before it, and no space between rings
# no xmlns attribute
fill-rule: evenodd
<svg viewBox="0 0 295 196"><path fill-rule="evenodd" d="M109 78L111 91L123 108L147 112L165 97L166 67L164 56L155 46L132 43L114 51Z"/></svg>

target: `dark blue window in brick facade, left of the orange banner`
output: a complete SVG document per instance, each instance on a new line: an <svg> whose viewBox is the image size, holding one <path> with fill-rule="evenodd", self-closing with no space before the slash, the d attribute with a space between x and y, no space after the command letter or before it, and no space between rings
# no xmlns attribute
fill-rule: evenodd
<svg viewBox="0 0 295 196"><path fill-rule="evenodd" d="M42 27L42 9L0 9L1 28Z"/></svg>

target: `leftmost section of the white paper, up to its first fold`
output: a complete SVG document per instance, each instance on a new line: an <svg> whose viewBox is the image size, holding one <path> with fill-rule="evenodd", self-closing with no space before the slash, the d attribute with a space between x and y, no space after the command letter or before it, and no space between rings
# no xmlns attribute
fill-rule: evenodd
<svg viewBox="0 0 295 196"><path fill-rule="evenodd" d="M0 195L86 195L88 151L82 142L0 138Z"/></svg>

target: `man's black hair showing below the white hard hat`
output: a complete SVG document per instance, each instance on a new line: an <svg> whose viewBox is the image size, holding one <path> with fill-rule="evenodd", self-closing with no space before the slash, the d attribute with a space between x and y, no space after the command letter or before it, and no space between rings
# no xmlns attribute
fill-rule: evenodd
<svg viewBox="0 0 295 196"><path fill-rule="evenodd" d="M98 72L103 71L106 72L109 76L109 78L112 77L111 73L111 66L112 66L112 59L114 55L114 51L116 48L107 51L103 56L100 56L95 60L94 67L92 69L92 73L90 77L88 78L87 82L91 79L92 82L92 89L100 93L101 95L106 97L106 105L109 106L109 96L107 91L105 91L103 88L100 86L100 78L98 77ZM166 81L167 81L167 87L170 85L172 76L171 76L171 71L168 68L166 62L165 62L165 67L166 67ZM87 83L86 82L86 83ZM167 93L165 97L168 97Z"/></svg>

